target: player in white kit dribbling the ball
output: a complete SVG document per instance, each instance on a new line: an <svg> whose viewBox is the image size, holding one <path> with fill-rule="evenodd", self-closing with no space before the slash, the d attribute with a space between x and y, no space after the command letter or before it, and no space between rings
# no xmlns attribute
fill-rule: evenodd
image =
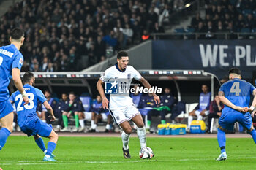
<svg viewBox="0 0 256 170"><path fill-rule="evenodd" d="M113 116L113 119L124 130L121 134L124 158L131 158L131 156L129 155L128 143L129 135L132 133L132 127L128 122L129 120L132 120L138 127L137 134L140 139L140 148L146 147L146 129L143 123L143 118L141 117L138 109L135 107L135 104L133 104L132 98L129 97L129 95L110 94L110 101L108 101L102 85L105 84L105 82L112 81L111 88L115 87L118 84L119 88L127 89L129 88L132 79L135 78L135 80L140 81L145 88L150 89L151 85L148 83L148 81L144 79L140 75L140 73L133 68L133 66L128 66L128 63L128 53L125 51L118 52L116 65L106 69L105 72L102 74L102 77L100 77L99 81L97 82L97 90L102 97L103 109L109 109L110 114ZM159 96L157 96L156 93L153 93L153 96L156 104L159 104Z"/></svg>

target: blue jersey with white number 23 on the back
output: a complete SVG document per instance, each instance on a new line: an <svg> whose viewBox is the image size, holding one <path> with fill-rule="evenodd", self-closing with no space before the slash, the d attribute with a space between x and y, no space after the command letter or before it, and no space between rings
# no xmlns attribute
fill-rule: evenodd
<svg viewBox="0 0 256 170"><path fill-rule="evenodd" d="M40 101L42 104L46 101L44 94L38 88L26 84L24 85L24 89L29 98L29 104L23 105L24 101L19 91L15 91L15 93L12 93L12 96L10 96L10 101L15 102L18 125L20 125L20 127L26 123L26 120L37 118L37 101Z"/></svg>

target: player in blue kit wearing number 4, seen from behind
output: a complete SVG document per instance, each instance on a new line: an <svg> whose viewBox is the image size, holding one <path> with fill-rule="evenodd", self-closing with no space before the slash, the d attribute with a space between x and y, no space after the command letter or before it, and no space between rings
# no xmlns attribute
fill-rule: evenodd
<svg viewBox="0 0 256 170"><path fill-rule="evenodd" d="M222 116L219 118L218 142L221 154L216 161L227 159L225 132L233 132L234 123L238 122L252 135L256 143L256 131L252 125L249 112L254 111L256 105L256 88L249 82L241 80L241 71L237 68L230 69L229 81L219 88L219 99L225 104ZM252 106L248 108L250 96L253 95Z"/></svg>

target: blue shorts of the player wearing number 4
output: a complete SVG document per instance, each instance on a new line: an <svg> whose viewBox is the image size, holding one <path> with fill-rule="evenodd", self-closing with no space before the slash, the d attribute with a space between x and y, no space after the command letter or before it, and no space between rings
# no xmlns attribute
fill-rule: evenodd
<svg viewBox="0 0 256 170"><path fill-rule="evenodd" d="M222 113L222 116L219 118L219 125L228 131L234 131L234 123L236 122L248 130L252 127L252 117L249 112L245 114L238 112Z"/></svg>

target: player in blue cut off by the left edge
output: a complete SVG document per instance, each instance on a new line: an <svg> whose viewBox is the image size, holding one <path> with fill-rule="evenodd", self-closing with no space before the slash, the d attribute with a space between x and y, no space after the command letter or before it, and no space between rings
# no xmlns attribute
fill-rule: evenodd
<svg viewBox="0 0 256 170"><path fill-rule="evenodd" d="M24 32L20 28L14 28L10 34L10 45L0 47L0 150L7 142L8 136L12 132L13 107L9 101L8 85L12 78L15 87L21 93L24 104L28 104L29 98L20 80L20 68L23 65L23 55L20 47L24 42Z"/></svg>

